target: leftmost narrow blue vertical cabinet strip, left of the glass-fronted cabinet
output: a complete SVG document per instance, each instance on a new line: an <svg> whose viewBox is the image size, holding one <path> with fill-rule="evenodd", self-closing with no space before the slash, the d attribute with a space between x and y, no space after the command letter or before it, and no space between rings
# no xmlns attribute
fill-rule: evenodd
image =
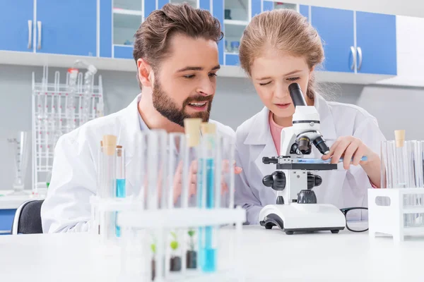
<svg viewBox="0 0 424 282"><path fill-rule="evenodd" d="M100 1L100 56L112 57L112 0Z"/></svg>

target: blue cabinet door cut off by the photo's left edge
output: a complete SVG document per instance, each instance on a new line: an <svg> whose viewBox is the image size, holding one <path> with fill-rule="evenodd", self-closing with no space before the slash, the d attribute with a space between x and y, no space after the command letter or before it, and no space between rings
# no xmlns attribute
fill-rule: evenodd
<svg viewBox="0 0 424 282"><path fill-rule="evenodd" d="M33 0L0 4L0 50L33 51Z"/></svg>

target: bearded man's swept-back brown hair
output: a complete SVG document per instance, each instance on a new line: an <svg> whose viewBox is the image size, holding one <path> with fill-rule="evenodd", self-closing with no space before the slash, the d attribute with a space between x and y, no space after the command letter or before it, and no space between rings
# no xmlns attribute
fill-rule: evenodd
<svg viewBox="0 0 424 282"><path fill-rule="evenodd" d="M220 23L211 13L189 4L166 4L153 11L137 30L134 42L134 60L144 59L153 70L170 53L170 38L176 33L192 38L223 38ZM138 75L137 75L138 78Z"/></svg>

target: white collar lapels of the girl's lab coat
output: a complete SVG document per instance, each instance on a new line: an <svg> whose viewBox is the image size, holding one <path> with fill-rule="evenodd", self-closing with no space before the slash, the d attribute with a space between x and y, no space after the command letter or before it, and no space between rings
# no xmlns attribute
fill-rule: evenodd
<svg viewBox="0 0 424 282"><path fill-rule="evenodd" d="M317 108L319 119L321 120L320 128L324 140L336 140L336 128L329 105L321 95L315 94L314 106ZM245 145L266 145L270 136L269 109L264 106L257 114L252 130L247 135L244 143Z"/></svg>

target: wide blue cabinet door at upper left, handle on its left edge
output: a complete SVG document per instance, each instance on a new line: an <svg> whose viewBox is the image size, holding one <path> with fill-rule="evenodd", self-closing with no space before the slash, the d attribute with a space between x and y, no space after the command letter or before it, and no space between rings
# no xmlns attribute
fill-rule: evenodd
<svg viewBox="0 0 424 282"><path fill-rule="evenodd" d="M36 51L96 56L97 1L37 1Z"/></svg>

